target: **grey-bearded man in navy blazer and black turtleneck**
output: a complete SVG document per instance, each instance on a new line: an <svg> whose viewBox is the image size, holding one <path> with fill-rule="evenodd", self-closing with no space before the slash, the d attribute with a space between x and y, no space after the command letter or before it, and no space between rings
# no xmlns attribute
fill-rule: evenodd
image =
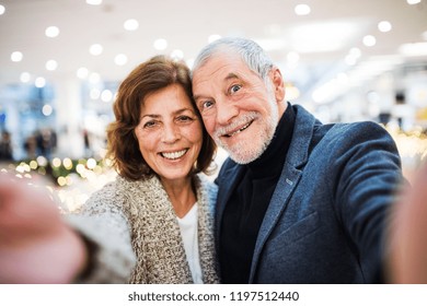
<svg viewBox="0 0 427 306"><path fill-rule="evenodd" d="M403 179L385 129L323 125L291 105L280 70L244 38L200 51L193 93L230 154L216 179L224 283L384 281L384 227Z"/></svg>

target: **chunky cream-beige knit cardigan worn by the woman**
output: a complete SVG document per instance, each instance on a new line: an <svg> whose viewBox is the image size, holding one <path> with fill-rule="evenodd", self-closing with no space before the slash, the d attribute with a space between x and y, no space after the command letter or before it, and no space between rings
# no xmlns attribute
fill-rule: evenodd
<svg viewBox="0 0 427 306"><path fill-rule="evenodd" d="M212 235L217 187L196 175L198 243L204 283L218 283ZM94 192L68 221L94 246L84 283L193 283L180 226L158 177L120 176Z"/></svg>

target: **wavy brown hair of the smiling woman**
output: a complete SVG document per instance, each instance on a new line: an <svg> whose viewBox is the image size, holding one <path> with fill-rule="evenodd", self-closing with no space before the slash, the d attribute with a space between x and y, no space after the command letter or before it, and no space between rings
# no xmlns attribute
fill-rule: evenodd
<svg viewBox="0 0 427 306"><path fill-rule="evenodd" d="M146 97L172 84L178 84L184 89L201 121L193 99L191 72L182 61L165 56L152 57L135 68L118 87L113 105L116 120L107 127L107 157L113 161L120 176L137 180L154 174L139 151L135 128L139 123L141 106ZM203 126L203 145L194 173L208 173L215 152L215 142Z"/></svg>

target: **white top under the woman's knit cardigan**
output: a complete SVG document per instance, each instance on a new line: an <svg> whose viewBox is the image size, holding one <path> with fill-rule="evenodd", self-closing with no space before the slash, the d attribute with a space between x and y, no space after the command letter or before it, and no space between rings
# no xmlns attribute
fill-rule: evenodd
<svg viewBox="0 0 427 306"><path fill-rule="evenodd" d="M184 217L176 219L180 224L181 236L183 237L185 255L187 256L193 281L195 284L203 284L200 257L198 255L197 202Z"/></svg>

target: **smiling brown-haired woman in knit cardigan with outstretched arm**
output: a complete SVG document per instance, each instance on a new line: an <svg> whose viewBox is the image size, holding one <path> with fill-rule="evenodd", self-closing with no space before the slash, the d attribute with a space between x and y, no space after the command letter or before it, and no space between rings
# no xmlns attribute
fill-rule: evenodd
<svg viewBox="0 0 427 306"><path fill-rule="evenodd" d="M67 222L46 195L0 177L2 283L217 283L205 178L216 145L188 68L158 56L124 80L107 128L118 176ZM71 226L70 226L71 225Z"/></svg>

